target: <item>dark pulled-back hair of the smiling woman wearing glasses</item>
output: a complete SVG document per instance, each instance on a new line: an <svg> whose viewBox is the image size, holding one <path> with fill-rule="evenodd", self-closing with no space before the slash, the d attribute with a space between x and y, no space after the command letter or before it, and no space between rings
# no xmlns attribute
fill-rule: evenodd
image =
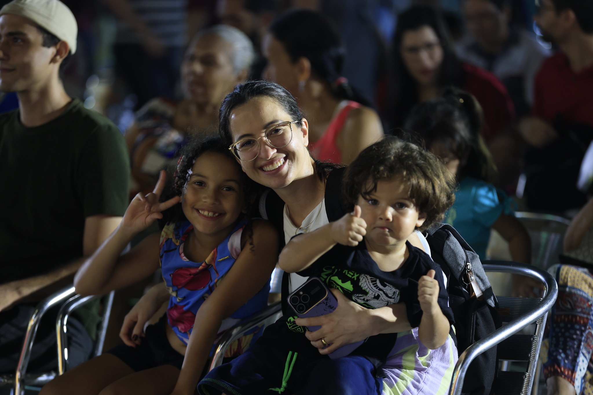
<svg viewBox="0 0 593 395"><path fill-rule="evenodd" d="M287 91L282 85L278 85L275 82L259 80L259 81L247 81L245 84L238 84L232 90L231 93L224 98L221 104L221 108L218 111L219 120L219 133L222 140L228 147L234 143L232 141L231 134L231 113L240 105L246 104L256 97L268 97L277 102L280 107L291 117L291 120L297 121L295 125L302 127L301 120L304 115L301 109L298 107L297 101L291 95L291 92ZM321 180L326 179L327 172L331 169L337 168L339 165L334 163L320 162L315 160L315 169L317 175Z"/></svg>

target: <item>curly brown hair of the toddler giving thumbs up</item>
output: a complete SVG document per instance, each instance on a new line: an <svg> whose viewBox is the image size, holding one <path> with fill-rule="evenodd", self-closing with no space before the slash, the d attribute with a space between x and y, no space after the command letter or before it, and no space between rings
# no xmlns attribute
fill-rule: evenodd
<svg viewBox="0 0 593 395"><path fill-rule="evenodd" d="M455 201L455 177L441 160L422 147L385 136L366 147L346 169L343 197L346 210L353 210L358 197L377 190L377 182L400 176L406 182L409 197L426 220L421 232L442 221L445 211Z"/></svg>

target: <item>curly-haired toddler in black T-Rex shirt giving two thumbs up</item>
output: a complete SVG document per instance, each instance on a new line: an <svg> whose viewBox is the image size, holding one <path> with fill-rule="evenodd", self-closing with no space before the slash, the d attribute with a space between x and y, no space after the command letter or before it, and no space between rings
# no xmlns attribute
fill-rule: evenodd
<svg viewBox="0 0 593 395"><path fill-rule="evenodd" d="M295 236L280 254L279 265L321 278L333 293L342 292L369 311L405 303L418 342L429 349L449 342L457 355L449 338L453 315L442 271L406 241L416 229L428 229L442 219L454 200L453 187L454 178L438 158L412 143L386 137L364 149L347 168L344 195L352 214ZM209 372L200 381L200 393L383 391L381 367L393 354L397 333L371 336L350 355L330 359L311 345L295 319L292 314L283 316L249 351ZM321 339L328 346L332 340ZM445 376L441 372L448 383L451 377ZM410 384L407 390L435 390L422 392L422 387Z"/></svg>

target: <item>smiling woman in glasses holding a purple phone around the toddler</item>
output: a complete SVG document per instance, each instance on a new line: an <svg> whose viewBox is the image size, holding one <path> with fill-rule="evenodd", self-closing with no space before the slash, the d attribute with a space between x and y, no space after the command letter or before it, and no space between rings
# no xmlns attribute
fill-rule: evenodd
<svg viewBox="0 0 593 395"><path fill-rule="evenodd" d="M325 197L329 196L325 191L326 181L342 176L342 171L332 163L311 158L307 150L309 123L286 89L269 81L250 81L237 85L222 102L219 123L222 137L228 140L231 152L239 160L247 176L271 188L266 199L277 194L282 200L283 210L278 220L272 218L270 212L266 211L266 214L283 233L285 242L299 233L311 232L329 223L327 213L332 207L339 205L340 201L339 198L326 201ZM420 233L413 233L409 241L424 251L429 251L426 240ZM288 291L297 288L305 280L306 278L299 275L291 275ZM338 307L330 315L296 321L299 326L321 326L315 332L307 332L307 338L318 348L320 354L330 354L343 345L362 341L378 333L406 332L411 329L405 318L406 307L403 304L368 310L339 292L335 296ZM327 346L328 344L330 345ZM449 342L442 348L428 351L418 345L411 332L400 333L387 365L381 367L385 377L376 378L377 387L369 386L369 393L377 393L380 388L383 393L402 393L407 390L406 393L411 394L432 394L436 393L435 388L447 388L454 365L452 359L457 355L448 347ZM428 358L429 353L431 364L426 367L421 359ZM411 364L403 364L404 360ZM323 381L330 383L333 389L324 391L323 386L319 386L314 393L353 393L352 388L359 388L361 371L351 365L340 365L339 359L333 360L338 361L336 364L331 359L324 361L327 364L319 366L317 377L323 377ZM259 362L254 362L254 366L257 363ZM289 370L292 371L292 368ZM203 391L200 393L220 393L206 387L214 386L220 390L218 384L222 381L216 380L216 377L224 380L223 376L228 377L233 372L232 365L229 364L216 368L199 384L199 390ZM286 380L278 377L279 388L270 389L287 394L299 393L295 386L298 387L308 378L301 373L293 371L292 378L285 377ZM372 372L373 375L375 373L378 372ZM402 387L400 377L409 377L410 380ZM252 375L244 378L244 383L258 380ZM446 385L442 386L442 383ZM237 392L229 387L223 393ZM256 392L245 390L243 393Z"/></svg>

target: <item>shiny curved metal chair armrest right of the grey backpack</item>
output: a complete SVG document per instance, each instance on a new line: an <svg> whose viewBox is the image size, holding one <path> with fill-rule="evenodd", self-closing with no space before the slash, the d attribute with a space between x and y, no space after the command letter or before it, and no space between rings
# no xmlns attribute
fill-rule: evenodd
<svg viewBox="0 0 593 395"><path fill-rule="evenodd" d="M490 333L490 335L473 343L460 355L453 370L451 387L449 387L449 395L461 394L461 388L463 387L463 381L466 376L467 368L474 358L482 354L487 349L492 348L503 340L509 338L514 333L519 332L519 330L530 325L539 317L546 314L547 311L550 310L554 305L556 297L558 296L558 284L556 284L556 280L554 280L554 278L543 269L532 265L507 261L484 261L483 266L485 271L521 274L540 280L545 287L544 297L535 309L522 314L517 319L509 322L507 325L496 329L494 332ZM536 359L539 355L540 347L541 342L539 342L537 347L537 352L535 354Z"/></svg>

